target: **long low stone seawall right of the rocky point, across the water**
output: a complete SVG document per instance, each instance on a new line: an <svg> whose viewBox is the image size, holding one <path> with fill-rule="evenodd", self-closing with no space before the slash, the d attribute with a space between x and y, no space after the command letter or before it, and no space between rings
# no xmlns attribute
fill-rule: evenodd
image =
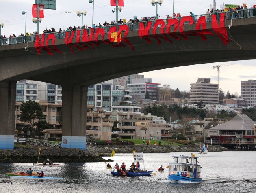
<svg viewBox="0 0 256 193"><path fill-rule="evenodd" d="M199 145L200 146L200 145ZM112 150L115 153L132 153L133 151L143 152L143 153L168 153L168 152L198 152L199 146L159 146L159 145L112 145L112 146L103 146L103 145L93 145L86 146L87 151L93 153L94 155L104 155L110 154ZM218 145L208 146L208 151L227 151L225 147Z"/></svg>

